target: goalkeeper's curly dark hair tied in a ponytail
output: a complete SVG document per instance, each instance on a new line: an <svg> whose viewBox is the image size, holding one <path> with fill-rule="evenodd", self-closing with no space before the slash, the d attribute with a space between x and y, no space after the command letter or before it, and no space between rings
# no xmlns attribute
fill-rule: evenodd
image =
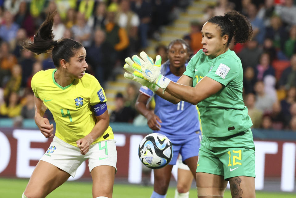
<svg viewBox="0 0 296 198"><path fill-rule="evenodd" d="M217 24L221 29L221 36L228 35L227 45L234 38L234 43L245 43L252 38L251 22L238 11L231 11L224 16L214 16L207 22Z"/></svg>

